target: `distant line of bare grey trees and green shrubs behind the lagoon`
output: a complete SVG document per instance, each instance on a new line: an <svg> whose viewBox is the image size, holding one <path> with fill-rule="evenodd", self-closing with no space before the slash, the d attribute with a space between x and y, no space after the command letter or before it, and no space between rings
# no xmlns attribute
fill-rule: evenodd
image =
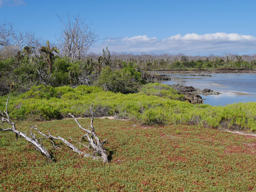
<svg viewBox="0 0 256 192"><path fill-rule="evenodd" d="M93 61L97 61L98 54L90 53L87 55ZM126 54L111 52L110 61L113 65L118 65L122 61L137 64L141 69L214 69L214 68L254 68L256 66L256 55L234 55L224 54L222 56L190 56L190 55L171 55L171 54Z"/></svg>

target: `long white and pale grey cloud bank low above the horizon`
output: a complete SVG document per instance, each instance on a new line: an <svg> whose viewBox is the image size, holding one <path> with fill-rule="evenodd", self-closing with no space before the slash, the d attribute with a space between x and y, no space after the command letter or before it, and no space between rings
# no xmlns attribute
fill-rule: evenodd
<svg viewBox="0 0 256 192"><path fill-rule="evenodd" d="M255 54L256 37L252 35L241 35L236 33L214 33L214 34L177 34L165 39L158 40L157 37L134 36L134 37L105 37L103 41L91 46L91 52L101 52L108 46L111 52L126 52L140 54L169 53L186 55L220 55L223 53Z"/></svg>

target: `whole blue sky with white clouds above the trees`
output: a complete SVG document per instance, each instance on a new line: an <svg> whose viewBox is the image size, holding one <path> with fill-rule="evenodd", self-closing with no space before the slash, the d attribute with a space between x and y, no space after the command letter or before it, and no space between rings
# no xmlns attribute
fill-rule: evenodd
<svg viewBox="0 0 256 192"><path fill-rule="evenodd" d="M58 43L77 15L99 36L89 52L185 55L256 54L256 1L0 0L0 23Z"/></svg>

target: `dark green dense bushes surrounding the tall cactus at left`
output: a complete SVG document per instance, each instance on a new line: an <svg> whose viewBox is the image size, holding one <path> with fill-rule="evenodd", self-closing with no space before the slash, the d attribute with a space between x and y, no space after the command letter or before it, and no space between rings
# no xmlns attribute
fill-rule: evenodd
<svg viewBox="0 0 256 192"><path fill-rule="evenodd" d="M53 87L92 84L94 79L93 66L87 61L72 63L67 58L54 56L52 74L49 75L48 64L43 56L34 58L23 55L22 59L0 60L0 95L13 91L26 92L32 86L44 83Z"/></svg>

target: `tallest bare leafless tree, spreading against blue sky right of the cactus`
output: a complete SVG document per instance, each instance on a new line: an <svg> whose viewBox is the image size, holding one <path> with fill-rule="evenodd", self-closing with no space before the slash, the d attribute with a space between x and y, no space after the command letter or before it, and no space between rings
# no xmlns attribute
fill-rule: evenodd
<svg viewBox="0 0 256 192"><path fill-rule="evenodd" d="M73 16L73 20L69 18L69 14L67 15L67 23L63 23L57 15L64 26L58 41L62 46L62 54L71 58L71 62L76 62L81 54L86 54L92 43L98 41L98 34L91 30L80 14Z"/></svg>

